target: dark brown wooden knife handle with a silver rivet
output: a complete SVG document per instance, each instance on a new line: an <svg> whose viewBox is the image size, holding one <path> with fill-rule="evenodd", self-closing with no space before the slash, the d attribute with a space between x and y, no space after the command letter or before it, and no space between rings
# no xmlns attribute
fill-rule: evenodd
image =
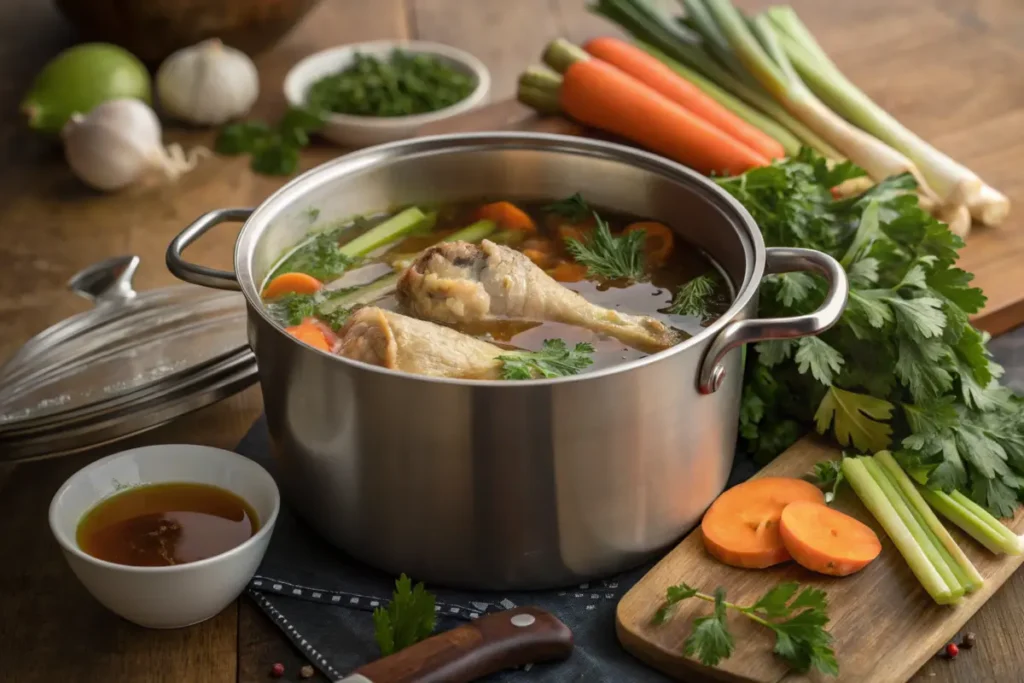
<svg viewBox="0 0 1024 683"><path fill-rule="evenodd" d="M564 659L572 632L537 607L487 614L355 671L373 683L468 683L535 661Z"/></svg>

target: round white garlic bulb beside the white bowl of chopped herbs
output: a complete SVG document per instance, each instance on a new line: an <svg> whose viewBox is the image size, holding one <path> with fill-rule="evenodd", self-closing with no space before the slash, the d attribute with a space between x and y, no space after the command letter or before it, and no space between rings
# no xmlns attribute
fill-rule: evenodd
<svg viewBox="0 0 1024 683"><path fill-rule="evenodd" d="M216 126L249 113L259 95L256 65L216 38L185 47L157 71L157 96L169 116Z"/></svg>

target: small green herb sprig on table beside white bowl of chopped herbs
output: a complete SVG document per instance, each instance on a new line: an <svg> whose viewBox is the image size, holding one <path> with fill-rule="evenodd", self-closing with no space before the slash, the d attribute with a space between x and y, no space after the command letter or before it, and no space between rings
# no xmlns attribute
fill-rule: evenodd
<svg viewBox="0 0 1024 683"><path fill-rule="evenodd" d="M252 169L257 173L291 175L299 166L299 151L309 143L309 133L323 125L319 114L292 108L272 128L262 121L224 126L214 150L227 156L250 155Z"/></svg>

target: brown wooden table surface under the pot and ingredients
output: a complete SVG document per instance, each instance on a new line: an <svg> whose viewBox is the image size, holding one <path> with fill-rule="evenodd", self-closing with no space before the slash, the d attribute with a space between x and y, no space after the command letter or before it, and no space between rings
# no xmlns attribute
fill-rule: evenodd
<svg viewBox="0 0 1024 683"><path fill-rule="evenodd" d="M667 0L668 1L668 0ZM767 0L740 4L756 9ZM878 101L938 146L1024 203L1024 5L1019 0L794 0L840 67ZM556 36L582 40L613 33L584 0L324 0L258 59L263 91L257 115L282 109L290 65L317 49L355 40L416 37L468 49L494 76L496 98L512 94L518 72ZM38 69L75 40L45 0L0 3L0 359L36 332L88 304L65 289L80 268L137 254L139 289L171 284L163 254L170 239L209 209L258 203L280 180L254 176L244 160L209 160L176 184L115 197L86 191L59 148L29 134L15 103ZM187 144L209 133L169 131ZM308 151L305 167L340 154ZM1024 289L1024 215L1018 208L999 240L972 243L964 267L989 289ZM190 255L230 263L228 227ZM1012 290L1013 288L1011 288ZM983 327L1016 325L1020 305L993 297ZM187 441L231 447L258 416L254 387L213 408L131 439L135 445ZM273 661L297 671L298 654L246 599L184 630L146 631L105 612L79 586L50 538L46 508L72 472L114 449L0 465L0 680L33 683L228 683L261 681ZM1011 581L969 625L980 647L953 663L933 660L914 681L1024 681L1024 575ZM609 623L608 628L612 625Z"/></svg>

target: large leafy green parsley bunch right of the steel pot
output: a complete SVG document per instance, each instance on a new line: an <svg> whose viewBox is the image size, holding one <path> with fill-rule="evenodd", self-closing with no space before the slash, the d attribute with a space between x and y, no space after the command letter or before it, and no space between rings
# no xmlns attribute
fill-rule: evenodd
<svg viewBox="0 0 1024 683"><path fill-rule="evenodd" d="M997 516L1024 498L1024 413L968 316L985 297L955 267L963 241L918 205L909 174L856 197L831 188L863 175L797 157L719 180L754 216L768 246L817 249L850 279L842 319L818 337L762 342L748 354L740 434L773 458L814 424L843 445L898 450L932 488L961 489ZM825 283L769 275L761 313L807 313Z"/></svg>

